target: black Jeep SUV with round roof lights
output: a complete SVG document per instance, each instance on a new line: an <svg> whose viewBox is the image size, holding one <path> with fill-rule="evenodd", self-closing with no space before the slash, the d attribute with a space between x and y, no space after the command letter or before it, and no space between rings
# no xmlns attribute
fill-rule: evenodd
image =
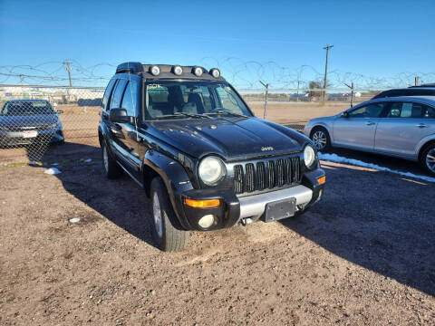
<svg viewBox="0 0 435 326"><path fill-rule="evenodd" d="M299 215L322 196L311 140L256 118L218 69L122 63L101 115L104 173L145 189L161 250L183 248L189 230Z"/></svg>

